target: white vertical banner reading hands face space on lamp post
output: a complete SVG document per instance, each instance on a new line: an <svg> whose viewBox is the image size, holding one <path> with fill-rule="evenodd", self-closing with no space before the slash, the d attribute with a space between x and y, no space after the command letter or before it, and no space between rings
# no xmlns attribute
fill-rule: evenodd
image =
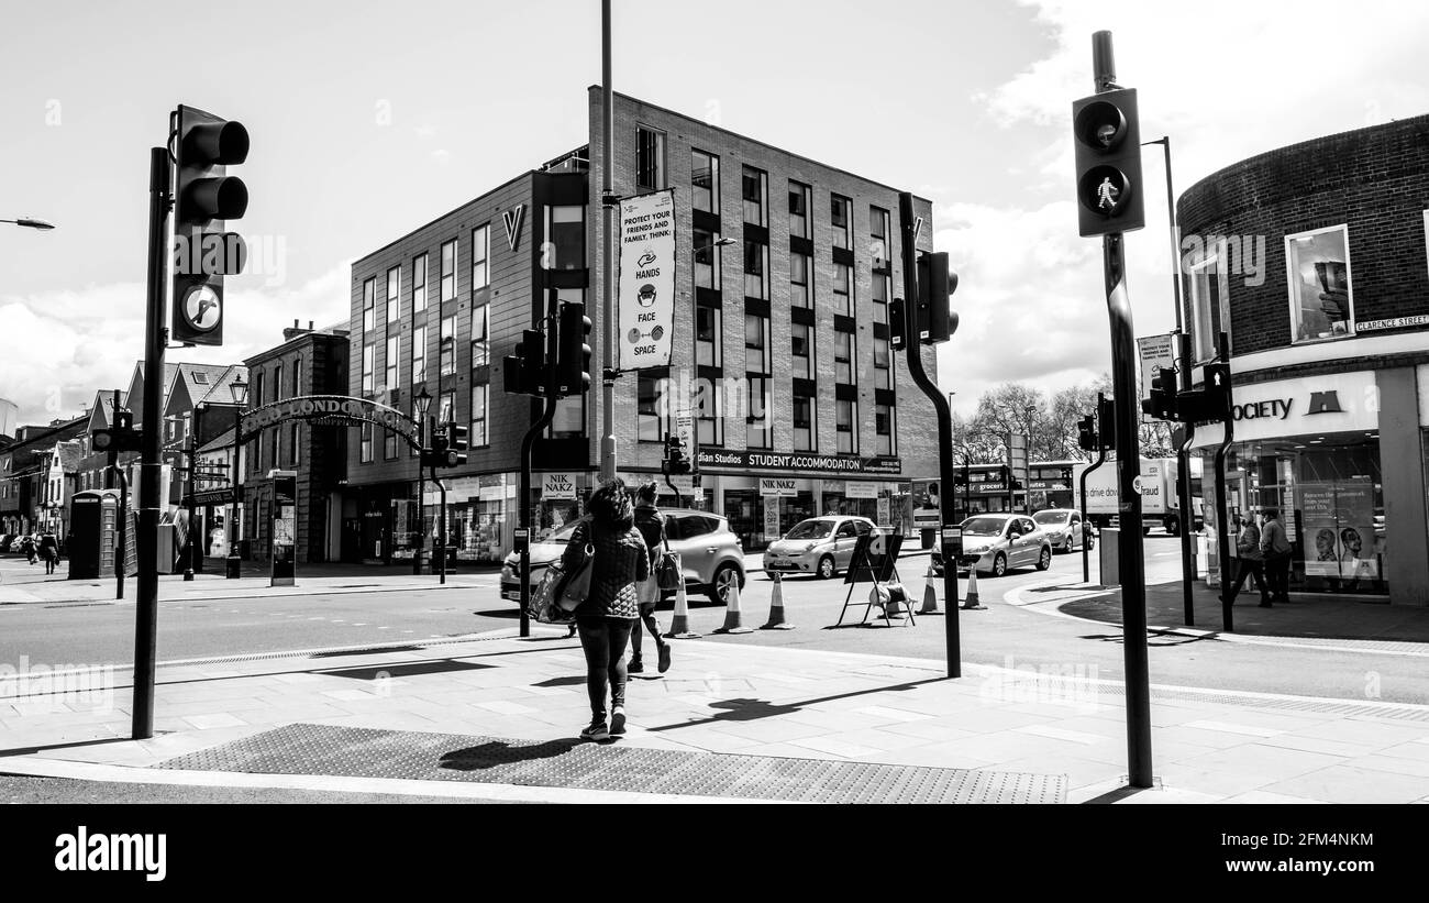
<svg viewBox="0 0 1429 903"><path fill-rule="evenodd" d="M674 190L620 201L619 367L670 366L674 329Z"/></svg>

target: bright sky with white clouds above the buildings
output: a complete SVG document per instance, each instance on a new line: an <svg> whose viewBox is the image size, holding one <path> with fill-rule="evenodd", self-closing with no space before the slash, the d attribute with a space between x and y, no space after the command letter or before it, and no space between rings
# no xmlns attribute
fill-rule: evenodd
<svg viewBox="0 0 1429 903"><path fill-rule="evenodd" d="M1110 29L1142 137L1179 194L1245 157L1429 111L1429 4L1360 0L613 1L616 90L935 204L962 326L955 409L1007 380L1047 393L1109 369L1100 243L1080 239L1070 107ZM346 321L350 261L586 140L600 3L239 7L57 0L0 37L0 397L21 423L126 387L143 353L149 149L179 103L242 120L250 271L239 361L300 320ZM813 10L817 10L815 14ZM180 14L183 13L183 14ZM151 47L147 56L141 47ZM1162 149L1127 237L1142 336L1175 326ZM256 264L256 266L254 266ZM1273 277L1273 274L1272 274Z"/></svg>

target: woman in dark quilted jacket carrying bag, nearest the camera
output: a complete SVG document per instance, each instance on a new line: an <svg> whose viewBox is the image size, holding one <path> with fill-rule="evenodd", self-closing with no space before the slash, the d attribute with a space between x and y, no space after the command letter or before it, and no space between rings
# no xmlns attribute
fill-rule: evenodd
<svg viewBox="0 0 1429 903"><path fill-rule="evenodd" d="M650 576L650 553L640 532L634 529L634 509L624 480L603 483L592 494L590 520L576 527L562 556L567 573L582 564L587 543L594 549L590 594L576 609L576 629L586 653L590 726L580 736L604 742L626 730L624 652L630 643L630 629L636 626L640 613L636 583Z"/></svg>

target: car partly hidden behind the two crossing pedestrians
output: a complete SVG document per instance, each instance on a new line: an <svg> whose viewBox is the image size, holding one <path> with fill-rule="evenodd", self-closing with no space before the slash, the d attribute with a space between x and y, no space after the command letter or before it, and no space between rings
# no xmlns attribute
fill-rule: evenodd
<svg viewBox="0 0 1429 903"><path fill-rule="evenodd" d="M739 537L730 532L729 520L687 509L662 509L662 513L670 550L680 556L687 590L704 593L710 602L725 604L736 580L745 589L745 550ZM546 539L532 543L532 589L546 576L546 566L566 552L566 542L576 532L576 524L584 520L589 519L573 520ZM520 567L522 559L516 552L510 552L502 564L502 599L517 604L522 600ZM666 590L664 596L674 596L674 590Z"/></svg>

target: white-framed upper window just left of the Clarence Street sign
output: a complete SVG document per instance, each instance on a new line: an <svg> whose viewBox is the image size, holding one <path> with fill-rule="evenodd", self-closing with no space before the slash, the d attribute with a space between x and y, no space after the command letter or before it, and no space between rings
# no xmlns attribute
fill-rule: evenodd
<svg viewBox="0 0 1429 903"><path fill-rule="evenodd" d="M1290 324L1295 341L1355 334L1350 289L1349 229L1332 226L1289 236L1285 259L1290 270Z"/></svg>

